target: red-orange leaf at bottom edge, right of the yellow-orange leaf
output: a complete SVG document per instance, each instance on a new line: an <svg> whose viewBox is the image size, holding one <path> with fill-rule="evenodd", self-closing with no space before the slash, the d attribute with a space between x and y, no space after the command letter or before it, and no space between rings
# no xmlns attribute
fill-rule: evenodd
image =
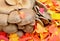
<svg viewBox="0 0 60 41"><path fill-rule="evenodd" d="M28 40L34 40L34 41L40 41L39 37L34 34L25 34L23 37L19 39L19 41L28 41Z"/></svg>

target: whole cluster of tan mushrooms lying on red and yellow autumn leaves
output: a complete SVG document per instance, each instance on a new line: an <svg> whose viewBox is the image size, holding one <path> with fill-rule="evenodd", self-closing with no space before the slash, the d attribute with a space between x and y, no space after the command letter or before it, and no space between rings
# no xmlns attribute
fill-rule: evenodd
<svg viewBox="0 0 60 41"><path fill-rule="evenodd" d="M40 7L45 9L44 14L39 12ZM36 0L0 0L0 31L7 34L32 33L36 21L45 26L50 20L46 7Z"/></svg>

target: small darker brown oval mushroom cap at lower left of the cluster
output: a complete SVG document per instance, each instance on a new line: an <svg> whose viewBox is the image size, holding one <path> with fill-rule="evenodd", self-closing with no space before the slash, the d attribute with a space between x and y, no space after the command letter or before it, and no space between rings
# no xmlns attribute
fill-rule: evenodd
<svg viewBox="0 0 60 41"><path fill-rule="evenodd" d="M3 31L10 34L10 33L15 33L17 32L17 26L13 24L9 24L8 26L5 26L3 28Z"/></svg>

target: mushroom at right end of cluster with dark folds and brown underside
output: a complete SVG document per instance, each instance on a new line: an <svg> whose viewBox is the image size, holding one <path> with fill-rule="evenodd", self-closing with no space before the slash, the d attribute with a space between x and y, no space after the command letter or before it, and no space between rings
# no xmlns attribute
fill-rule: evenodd
<svg viewBox="0 0 60 41"><path fill-rule="evenodd" d="M44 11L43 13L41 13L40 10L39 10L39 6L34 6L34 10L36 12L36 20L42 26L45 26L45 25L51 23L51 21L50 21L51 20L51 17L50 17L50 14L47 11Z"/></svg>

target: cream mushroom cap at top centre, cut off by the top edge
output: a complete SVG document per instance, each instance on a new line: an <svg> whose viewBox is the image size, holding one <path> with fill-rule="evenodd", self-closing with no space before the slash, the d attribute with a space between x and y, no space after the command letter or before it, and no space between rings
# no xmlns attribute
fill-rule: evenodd
<svg viewBox="0 0 60 41"><path fill-rule="evenodd" d="M18 8L33 8L35 0L18 0Z"/></svg>

